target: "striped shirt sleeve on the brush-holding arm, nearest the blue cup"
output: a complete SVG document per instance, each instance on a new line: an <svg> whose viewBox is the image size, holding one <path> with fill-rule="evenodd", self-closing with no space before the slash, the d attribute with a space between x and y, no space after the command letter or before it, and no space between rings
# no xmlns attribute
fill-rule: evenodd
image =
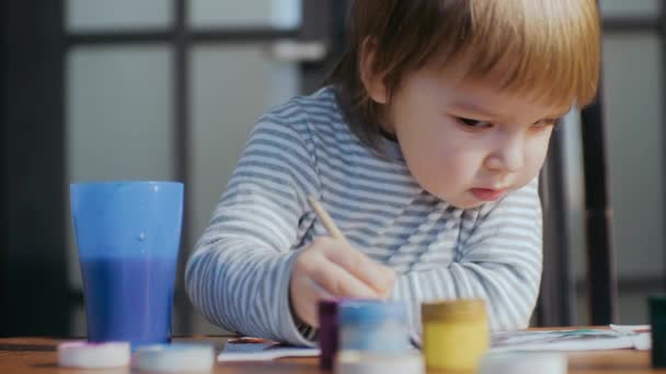
<svg viewBox="0 0 666 374"><path fill-rule="evenodd" d="M185 287L206 318L248 336L312 344L290 312L289 280L315 186L299 131L276 116L262 118L187 262Z"/></svg>

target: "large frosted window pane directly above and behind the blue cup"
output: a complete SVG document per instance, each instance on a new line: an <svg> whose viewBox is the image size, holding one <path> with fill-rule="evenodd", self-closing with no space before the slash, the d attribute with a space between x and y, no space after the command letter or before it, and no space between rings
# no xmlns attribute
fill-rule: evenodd
<svg viewBox="0 0 666 374"><path fill-rule="evenodd" d="M68 56L70 182L173 179L171 51L74 49ZM70 280L81 285L71 220Z"/></svg>

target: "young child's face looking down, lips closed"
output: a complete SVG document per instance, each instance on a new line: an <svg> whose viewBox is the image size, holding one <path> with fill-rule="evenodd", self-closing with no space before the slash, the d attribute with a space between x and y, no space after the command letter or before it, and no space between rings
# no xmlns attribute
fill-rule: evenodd
<svg viewBox="0 0 666 374"><path fill-rule="evenodd" d="M456 69L430 68L409 74L384 119L416 182L469 209L537 176L554 122L569 107L536 103L459 75Z"/></svg>

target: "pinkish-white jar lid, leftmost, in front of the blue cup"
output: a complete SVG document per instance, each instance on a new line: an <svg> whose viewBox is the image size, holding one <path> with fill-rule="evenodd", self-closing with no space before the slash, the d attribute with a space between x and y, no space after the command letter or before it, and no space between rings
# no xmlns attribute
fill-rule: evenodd
<svg viewBox="0 0 666 374"><path fill-rule="evenodd" d="M58 365L62 367L101 369L129 364L129 342L68 341L58 344Z"/></svg>

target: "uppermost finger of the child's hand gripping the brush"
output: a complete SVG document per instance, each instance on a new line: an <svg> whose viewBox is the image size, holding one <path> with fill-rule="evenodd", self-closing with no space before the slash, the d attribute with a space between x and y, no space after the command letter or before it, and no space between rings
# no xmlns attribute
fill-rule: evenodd
<svg viewBox="0 0 666 374"><path fill-rule="evenodd" d="M374 261L349 245L326 250L325 256L381 295L390 292L393 287L395 277L392 269Z"/></svg>

